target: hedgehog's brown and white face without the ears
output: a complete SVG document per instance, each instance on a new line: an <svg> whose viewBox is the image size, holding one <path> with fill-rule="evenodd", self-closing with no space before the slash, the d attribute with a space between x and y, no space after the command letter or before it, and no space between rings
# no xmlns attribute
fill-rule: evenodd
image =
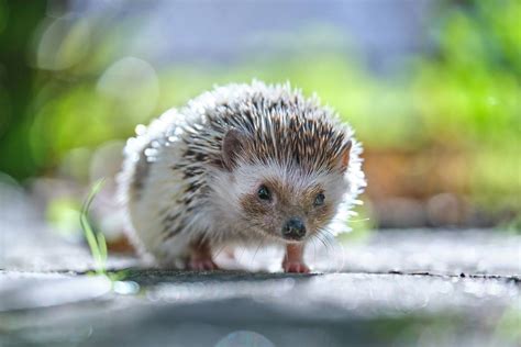
<svg viewBox="0 0 521 347"><path fill-rule="evenodd" d="M244 224L288 243L324 232L347 188L340 174L304 175L276 164L244 164L233 174L232 190Z"/></svg>

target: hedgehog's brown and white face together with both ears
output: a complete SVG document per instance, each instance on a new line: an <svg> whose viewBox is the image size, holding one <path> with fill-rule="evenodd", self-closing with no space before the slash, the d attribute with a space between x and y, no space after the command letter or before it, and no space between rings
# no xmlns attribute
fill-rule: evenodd
<svg viewBox="0 0 521 347"><path fill-rule="evenodd" d="M232 214L244 232L287 243L324 232L348 188L344 174L351 147L333 168L313 171L293 160L252 160L241 150L246 142L233 130L224 138L222 159L228 170L215 184L219 201L229 204L222 213Z"/></svg>

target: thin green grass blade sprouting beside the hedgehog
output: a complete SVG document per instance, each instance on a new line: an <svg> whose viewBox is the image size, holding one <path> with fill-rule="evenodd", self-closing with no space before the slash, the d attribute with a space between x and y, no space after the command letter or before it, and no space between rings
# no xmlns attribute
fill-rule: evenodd
<svg viewBox="0 0 521 347"><path fill-rule="evenodd" d="M95 259L95 267L96 273L107 276L107 240L103 236L103 233L96 232L90 222L89 222L89 210L92 201L95 200L96 195L99 193L101 188L103 187L104 179L98 180L89 192L87 200L84 202L81 206L81 213L79 216L79 223L81 225L81 230L84 231L85 238L90 248L90 254Z"/></svg>

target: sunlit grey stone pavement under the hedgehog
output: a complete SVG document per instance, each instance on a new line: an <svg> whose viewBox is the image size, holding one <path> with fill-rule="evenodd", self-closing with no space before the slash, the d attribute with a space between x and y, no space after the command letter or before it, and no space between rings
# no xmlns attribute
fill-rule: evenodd
<svg viewBox="0 0 521 347"><path fill-rule="evenodd" d="M36 212L2 211L2 347L521 345L521 237L501 231L311 245L310 275L279 272L277 249L221 256L240 270L214 272L111 256L109 279Z"/></svg>

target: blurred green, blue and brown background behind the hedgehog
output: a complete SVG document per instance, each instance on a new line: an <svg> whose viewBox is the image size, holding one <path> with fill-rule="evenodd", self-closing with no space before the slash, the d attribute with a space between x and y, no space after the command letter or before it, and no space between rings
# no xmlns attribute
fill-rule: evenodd
<svg viewBox="0 0 521 347"><path fill-rule="evenodd" d="M135 126L257 78L317 92L356 130L368 188L352 235L519 233L520 19L516 0L0 0L3 227L34 215L80 242L92 212L125 248L112 178Z"/></svg>

